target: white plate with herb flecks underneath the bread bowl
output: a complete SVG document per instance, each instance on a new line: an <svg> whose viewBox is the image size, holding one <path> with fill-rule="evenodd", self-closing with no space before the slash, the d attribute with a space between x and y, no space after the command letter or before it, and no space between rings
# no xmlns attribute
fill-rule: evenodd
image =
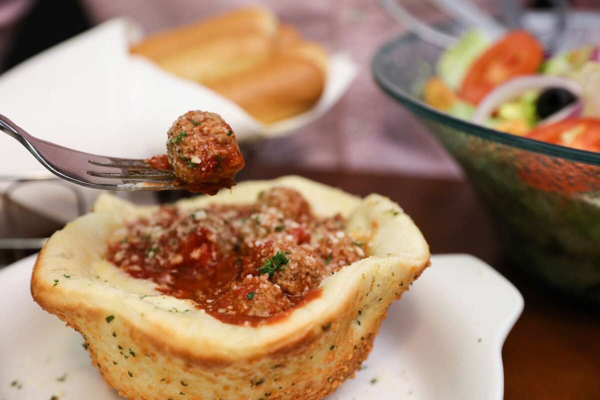
<svg viewBox="0 0 600 400"><path fill-rule="evenodd" d="M121 399L91 365L81 336L31 299L34 260L0 270L0 400ZM435 255L431 263L389 308L362 370L328 400L503 398L502 345L523 297L470 255Z"/></svg>

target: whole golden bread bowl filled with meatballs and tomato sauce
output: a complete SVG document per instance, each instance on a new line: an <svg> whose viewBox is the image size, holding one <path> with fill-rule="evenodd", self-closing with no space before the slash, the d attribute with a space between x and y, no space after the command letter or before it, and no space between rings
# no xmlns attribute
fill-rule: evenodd
<svg viewBox="0 0 600 400"><path fill-rule="evenodd" d="M429 257L386 197L289 176L161 209L102 196L48 240L31 291L125 398L320 399Z"/></svg>

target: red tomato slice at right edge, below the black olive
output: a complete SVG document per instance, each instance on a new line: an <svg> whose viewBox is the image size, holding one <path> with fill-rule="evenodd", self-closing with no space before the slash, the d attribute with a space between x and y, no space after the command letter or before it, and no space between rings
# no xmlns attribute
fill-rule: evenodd
<svg viewBox="0 0 600 400"><path fill-rule="evenodd" d="M543 125L532 130L527 137L600 153L600 119L574 118Z"/></svg>

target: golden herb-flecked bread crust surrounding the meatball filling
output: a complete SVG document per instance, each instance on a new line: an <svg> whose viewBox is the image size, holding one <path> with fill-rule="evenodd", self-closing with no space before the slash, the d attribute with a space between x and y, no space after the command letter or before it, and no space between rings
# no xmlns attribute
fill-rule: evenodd
<svg viewBox="0 0 600 400"><path fill-rule="evenodd" d="M298 177L245 182L231 193L179 206L248 203L274 185L300 191L317 214L346 215L347 230L368 238L371 255L326 279L320 297L285 318L257 327L224 324L193 309L189 300L130 282L133 278L102 260L106 241L125 219L151 208L110 196L44 246L32 295L82 333L92 362L125 398L323 398L367 357L389 304L427 266L428 246L389 199L361 200Z"/></svg>

